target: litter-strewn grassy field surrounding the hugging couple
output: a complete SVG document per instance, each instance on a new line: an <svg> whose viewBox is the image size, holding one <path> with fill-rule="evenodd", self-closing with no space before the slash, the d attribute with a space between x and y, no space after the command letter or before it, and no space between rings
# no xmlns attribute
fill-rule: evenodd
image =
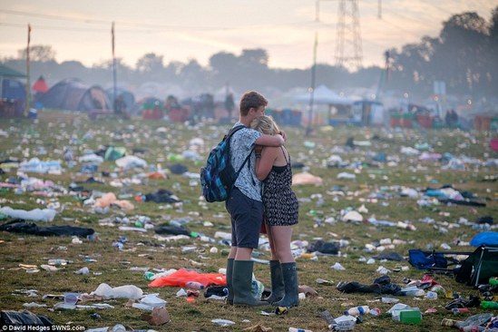
<svg viewBox="0 0 498 332"><path fill-rule="evenodd" d="M37 222L39 226L72 225L92 228L99 233L100 239L83 243L72 243L71 237L38 237L25 234L0 233L1 269L0 309L23 310L24 303L35 302L46 305L41 308L29 308L35 314L50 317L57 325L71 327L113 327L122 324L132 329L155 329L163 331L241 331L248 327L260 325L270 327L272 331L288 331L288 327L307 328L312 331L327 330L327 323L320 313L328 310L333 317L342 311L358 305L380 308L382 314L374 317L366 315L361 324L356 324L356 331L444 331L452 327L441 327L444 317L464 319L483 312L471 308L470 313L454 316L443 308L450 301L440 297L436 300L425 298L398 297L400 303L418 307L425 312L435 308L436 312L425 314L422 323L415 326L401 325L386 314L392 305L384 304L372 294L343 294L335 286L317 284L317 278L337 282L358 281L370 284L380 276L376 272L379 266L395 269L397 265L409 266L410 269L389 274L392 281L403 287L403 278L420 279L425 271L417 270L407 261L380 262L367 265L358 259L369 259L379 252L367 251L367 245L376 245L383 239L401 239L405 244L395 245L393 251L407 256L409 249L438 249L447 244L452 250L474 251L473 247L458 245L466 243L480 232L465 225L463 220L474 222L483 216L498 216L498 190L495 181L486 177L495 176L496 168L482 165L482 162L465 163L462 170L445 170L438 161L420 161L417 155L403 153L402 147L430 146L429 151L456 157L465 156L476 161L498 158L498 153L488 147L489 132L437 131L386 131L381 129L359 128L316 128L313 136L305 137L304 129L283 127L288 132L287 147L292 161L304 165L304 169L295 168L294 174L309 171L323 180L321 185L295 185L300 200L299 223L295 228L293 239L296 244L306 245L317 239L333 241L347 239L349 245L341 249L340 256L320 256L318 259L298 258L298 278L300 285L314 288L318 296L301 301L298 308L289 309L285 315L262 314L273 312L271 307L233 308L220 300L207 300L202 296L195 302L177 298L180 288L149 288L149 281L143 277L143 271L132 268L149 269L199 269L201 272L218 272L225 267L228 247L212 244L200 239L164 240L154 235L152 229L146 232L119 230L118 220L127 217L134 220L137 216L151 218L154 225L168 224L171 220L185 221L185 227L191 231L214 237L217 231L229 232L229 217L221 203L208 204L200 199L198 180L168 174L167 179L148 179L145 174L150 170L119 170L114 161L104 161L96 173L79 172L81 163L73 168L63 160L67 147L74 151L77 159L85 151L98 151L105 145L125 147L129 154L132 149L142 149L141 158L149 165L161 166L163 170L176 163L186 165L190 172L199 172L200 166L210 149L220 141L228 127L205 123L197 126L169 122L145 122L142 119L122 121L105 118L89 121L87 117L74 113L40 112L39 119L2 120L0 129L8 134L0 136L0 161L17 159L20 161L37 157L40 160L61 160L61 175L29 173L30 177L44 181L54 181L56 187L40 195L33 191L18 192L12 188L0 191L0 206L13 209L44 209L48 204L58 205L58 213L51 223ZM346 149L348 138L357 142L356 149ZM181 160L181 153L190 149L190 140L201 138L204 145L198 150L200 161ZM366 143L371 145L366 146ZM425 144L426 143L426 144ZM386 154L386 162L374 162L378 153ZM337 168L328 165L330 156L337 155L353 168ZM6 182L17 178L16 169L5 170L0 174L0 181ZM101 172L109 172L112 177L103 177ZM338 179L337 175L347 172L355 174L355 179ZM103 183L85 182L91 176ZM134 210L120 210L112 207L106 214L93 211L92 205L84 205L76 193L69 191L73 182L79 182L85 190L94 193L113 192L117 197L124 197L134 205ZM120 182L117 186L115 182ZM401 195L405 189L417 190L419 196L426 188L437 189L452 185L455 190L472 192L486 207L463 205L431 204L423 206L416 198ZM181 203L166 204L149 201L135 201L136 195L167 189L181 200ZM335 194L337 191L342 194ZM376 199L373 199L376 198ZM419 198L420 199L420 198ZM373 226L368 222L345 222L341 220L341 210L366 208L364 219L404 221L415 226L415 230L398 227ZM361 208L363 209L363 208ZM432 220L432 222L427 222ZM5 223L9 219L1 220ZM106 222L104 222L106 221ZM210 224L206 225L206 221ZM212 226L210 226L212 225ZM129 226L135 226L131 224ZM123 248L117 249L112 244L120 237L126 237ZM182 252L184 246L195 246L196 250ZM218 252L210 249L217 247ZM304 247L306 249L306 247ZM269 252L260 249L258 259L269 259ZM26 273L20 264L40 267L47 259L68 259L73 264L63 269L48 272L41 269L38 273ZM90 262L88 259L94 261ZM340 263L345 270L331 269ZM90 274L77 275L74 271L88 267ZM256 277L269 287L269 266L255 264ZM465 297L477 295L473 288L459 284L454 277L434 275L447 291L458 292ZM135 285L145 294L159 293L165 299L171 322L159 327L152 327L141 318L142 311L132 308L126 299L105 300L102 302L114 308L104 309L54 309L59 300L43 298L47 294L63 292L90 293L101 283L112 287ZM37 297L28 297L19 289L34 289ZM98 315L93 315L98 314ZM235 322L231 327L219 327L212 319L229 319ZM111 329L110 328L110 329Z"/></svg>

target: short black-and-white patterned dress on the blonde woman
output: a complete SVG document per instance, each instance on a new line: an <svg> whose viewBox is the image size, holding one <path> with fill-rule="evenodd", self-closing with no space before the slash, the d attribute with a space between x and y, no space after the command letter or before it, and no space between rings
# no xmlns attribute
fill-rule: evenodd
<svg viewBox="0 0 498 332"><path fill-rule="evenodd" d="M273 166L263 182L265 222L269 226L290 226L298 223L298 198L292 189L290 157L282 147L287 164Z"/></svg>

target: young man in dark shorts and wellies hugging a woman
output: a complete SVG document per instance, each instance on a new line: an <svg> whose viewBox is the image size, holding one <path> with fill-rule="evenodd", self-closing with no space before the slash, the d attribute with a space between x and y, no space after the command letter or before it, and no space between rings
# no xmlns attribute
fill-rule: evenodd
<svg viewBox="0 0 498 332"><path fill-rule="evenodd" d="M227 302L243 306L264 306L252 296L252 271L254 262L250 260L252 250L258 248L259 229L263 219L261 182L255 172L256 156L252 148L257 145L281 146L285 140L280 134L265 135L249 128L250 122L265 114L268 101L256 92L244 93L240 99L239 122L247 128L235 132L230 141L231 163L239 170L243 161L251 153L249 161L239 173L234 188L230 191L225 206L231 219L231 249L227 260ZM284 134L285 136L285 134Z"/></svg>

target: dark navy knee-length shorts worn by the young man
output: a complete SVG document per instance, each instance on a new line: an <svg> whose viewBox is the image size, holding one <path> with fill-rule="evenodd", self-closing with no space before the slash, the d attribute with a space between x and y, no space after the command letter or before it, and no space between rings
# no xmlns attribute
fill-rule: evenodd
<svg viewBox="0 0 498 332"><path fill-rule="evenodd" d="M259 229L263 220L263 203L249 199L234 187L225 203L231 219L231 245L239 248L258 248Z"/></svg>

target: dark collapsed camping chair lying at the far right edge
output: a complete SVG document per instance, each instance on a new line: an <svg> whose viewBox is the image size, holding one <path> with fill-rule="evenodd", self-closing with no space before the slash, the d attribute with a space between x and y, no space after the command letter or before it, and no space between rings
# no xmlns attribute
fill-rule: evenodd
<svg viewBox="0 0 498 332"><path fill-rule="evenodd" d="M456 281L474 287L487 284L491 277L498 277L498 246L479 246L455 275Z"/></svg>

